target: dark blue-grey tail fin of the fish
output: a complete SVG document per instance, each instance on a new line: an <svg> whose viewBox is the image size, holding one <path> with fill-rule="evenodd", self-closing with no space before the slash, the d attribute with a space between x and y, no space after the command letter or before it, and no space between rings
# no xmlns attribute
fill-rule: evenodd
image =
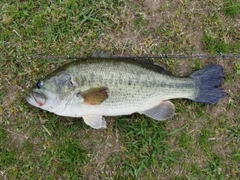
<svg viewBox="0 0 240 180"><path fill-rule="evenodd" d="M190 75L197 84L197 94L193 101L215 104L226 95L223 88L219 88L223 79L223 67L209 64Z"/></svg>

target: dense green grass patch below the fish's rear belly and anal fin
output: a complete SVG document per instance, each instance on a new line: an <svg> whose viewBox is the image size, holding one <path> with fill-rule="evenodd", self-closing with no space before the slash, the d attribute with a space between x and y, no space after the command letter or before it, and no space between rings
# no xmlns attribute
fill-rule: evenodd
<svg viewBox="0 0 240 180"><path fill-rule="evenodd" d="M154 167L165 169L171 162L178 162L176 153L171 152L165 142L167 132L163 127L162 123L143 117L118 119L117 128L124 134L125 147L125 160L119 173L137 178L140 173L147 173ZM156 177L151 175L151 178Z"/></svg>

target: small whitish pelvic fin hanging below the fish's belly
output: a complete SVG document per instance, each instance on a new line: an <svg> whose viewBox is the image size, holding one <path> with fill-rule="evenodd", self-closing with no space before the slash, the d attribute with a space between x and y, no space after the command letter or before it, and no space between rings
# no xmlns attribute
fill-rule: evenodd
<svg viewBox="0 0 240 180"><path fill-rule="evenodd" d="M107 128L106 121L101 115L83 116L84 122L94 129Z"/></svg>

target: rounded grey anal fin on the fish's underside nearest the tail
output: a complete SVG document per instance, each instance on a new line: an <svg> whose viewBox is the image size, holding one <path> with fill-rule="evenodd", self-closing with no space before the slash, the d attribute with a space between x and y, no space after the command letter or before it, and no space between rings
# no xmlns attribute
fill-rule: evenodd
<svg viewBox="0 0 240 180"><path fill-rule="evenodd" d="M142 112L142 114L159 121L173 117L174 113L175 107L171 101L163 101L158 106Z"/></svg>

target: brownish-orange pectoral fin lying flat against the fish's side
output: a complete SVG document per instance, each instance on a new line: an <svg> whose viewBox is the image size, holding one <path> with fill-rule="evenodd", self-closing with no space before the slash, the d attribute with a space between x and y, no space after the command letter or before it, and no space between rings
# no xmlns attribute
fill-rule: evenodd
<svg viewBox="0 0 240 180"><path fill-rule="evenodd" d="M107 87L91 88L87 91L80 92L77 96L81 96L84 99L84 104L98 105L108 98Z"/></svg>

